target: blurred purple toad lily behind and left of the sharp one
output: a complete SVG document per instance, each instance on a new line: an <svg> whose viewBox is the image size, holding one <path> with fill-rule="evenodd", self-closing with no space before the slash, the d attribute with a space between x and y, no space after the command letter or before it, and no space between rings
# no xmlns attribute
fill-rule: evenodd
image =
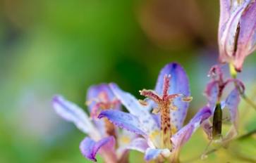
<svg viewBox="0 0 256 163"><path fill-rule="evenodd" d="M53 99L53 106L57 114L68 122L73 122L80 131L88 135L80 143L80 150L87 159L96 162L95 156L99 152L104 162L127 162L126 146L133 144L135 134L127 131L121 132L107 119L95 118L100 110L109 108L120 110L121 108L120 102L114 97L109 86L107 84L91 86L87 93L87 104L93 120L82 108L62 96L55 96Z"/></svg>

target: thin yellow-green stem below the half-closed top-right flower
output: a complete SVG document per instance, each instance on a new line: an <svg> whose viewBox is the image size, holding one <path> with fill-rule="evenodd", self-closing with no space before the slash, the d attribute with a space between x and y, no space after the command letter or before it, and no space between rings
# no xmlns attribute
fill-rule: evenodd
<svg viewBox="0 0 256 163"><path fill-rule="evenodd" d="M229 72L231 74L231 77L233 79L236 79L237 77L237 72L235 70L235 67L233 66L232 63L229 63ZM253 109L255 109L256 111L256 104L250 99L248 98L248 96L246 96L245 92L243 92L240 87L238 86L238 84L236 83L236 81L234 82L236 89L238 89L239 93L240 93L240 97L243 98L243 100L245 100L246 103L248 103L248 105L250 105Z"/></svg>

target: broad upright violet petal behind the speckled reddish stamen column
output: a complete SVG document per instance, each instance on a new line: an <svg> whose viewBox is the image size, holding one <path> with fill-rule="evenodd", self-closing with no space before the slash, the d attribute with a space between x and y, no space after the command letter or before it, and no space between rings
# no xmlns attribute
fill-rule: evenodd
<svg viewBox="0 0 256 163"><path fill-rule="evenodd" d="M163 91L164 75L171 74L169 94L182 93L185 96L190 96L190 87L187 74L181 65L178 63L169 63L161 69L157 79L155 91L161 95ZM174 105L178 110L171 110L171 124L175 125L177 129L181 129L183 122L188 112L188 103L183 102L181 97L174 100Z"/></svg>

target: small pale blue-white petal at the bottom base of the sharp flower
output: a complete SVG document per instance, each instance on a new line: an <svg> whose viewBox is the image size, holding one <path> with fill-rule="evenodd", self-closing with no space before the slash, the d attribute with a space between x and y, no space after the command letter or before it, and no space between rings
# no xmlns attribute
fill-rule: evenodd
<svg viewBox="0 0 256 163"><path fill-rule="evenodd" d="M144 159L146 161L150 161L152 159L156 159L160 154L163 154L166 157L168 157L171 154L171 152L169 149L147 148Z"/></svg>

